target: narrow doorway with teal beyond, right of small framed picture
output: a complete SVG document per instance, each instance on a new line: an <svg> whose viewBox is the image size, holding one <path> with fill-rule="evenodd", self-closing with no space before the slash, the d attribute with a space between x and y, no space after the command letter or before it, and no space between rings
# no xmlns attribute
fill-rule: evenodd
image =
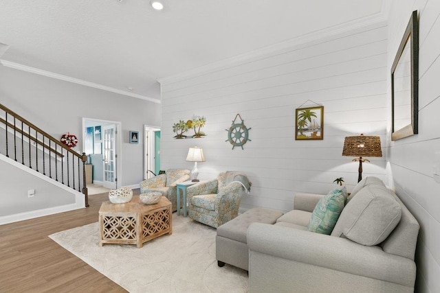
<svg viewBox="0 0 440 293"><path fill-rule="evenodd" d="M154 177L160 170L160 128L144 126L144 179Z"/></svg>

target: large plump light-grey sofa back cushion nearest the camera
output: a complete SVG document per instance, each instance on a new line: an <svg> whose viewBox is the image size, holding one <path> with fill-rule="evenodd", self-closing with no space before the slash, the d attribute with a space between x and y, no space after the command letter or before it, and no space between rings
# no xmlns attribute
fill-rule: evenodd
<svg viewBox="0 0 440 293"><path fill-rule="evenodd" d="M367 185L344 207L331 235L373 246L390 235L400 217L400 204L386 187Z"/></svg>

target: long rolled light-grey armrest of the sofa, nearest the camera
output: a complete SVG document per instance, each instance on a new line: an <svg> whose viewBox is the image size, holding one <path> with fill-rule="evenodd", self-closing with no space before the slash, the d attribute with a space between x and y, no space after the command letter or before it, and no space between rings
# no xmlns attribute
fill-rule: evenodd
<svg viewBox="0 0 440 293"><path fill-rule="evenodd" d="M346 238L253 223L248 228L248 248L250 257L255 251L292 263L307 263L410 287L415 282L416 266L411 259L384 253L379 246L363 246Z"/></svg>

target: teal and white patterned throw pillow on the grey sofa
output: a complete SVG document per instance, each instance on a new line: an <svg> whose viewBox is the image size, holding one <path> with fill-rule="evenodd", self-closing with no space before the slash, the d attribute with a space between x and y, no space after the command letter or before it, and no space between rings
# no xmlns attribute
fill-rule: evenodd
<svg viewBox="0 0 440 293"><path fill-rule="evenodd" d="M327 196L321 198L311 213L308 230L330 235L342 209L344 209L345 200L347 200L345 186L333 189Z"/></svg>

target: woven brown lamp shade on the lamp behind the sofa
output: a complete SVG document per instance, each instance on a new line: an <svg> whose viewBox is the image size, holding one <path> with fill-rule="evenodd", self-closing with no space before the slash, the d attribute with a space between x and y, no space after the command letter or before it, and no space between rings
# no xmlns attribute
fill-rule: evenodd
<svg viewBox="0 0 440 293"><path fill-rule="evenodd" d="M382 156L380 137L364 134L346 137L342 156Z"/></svg>

